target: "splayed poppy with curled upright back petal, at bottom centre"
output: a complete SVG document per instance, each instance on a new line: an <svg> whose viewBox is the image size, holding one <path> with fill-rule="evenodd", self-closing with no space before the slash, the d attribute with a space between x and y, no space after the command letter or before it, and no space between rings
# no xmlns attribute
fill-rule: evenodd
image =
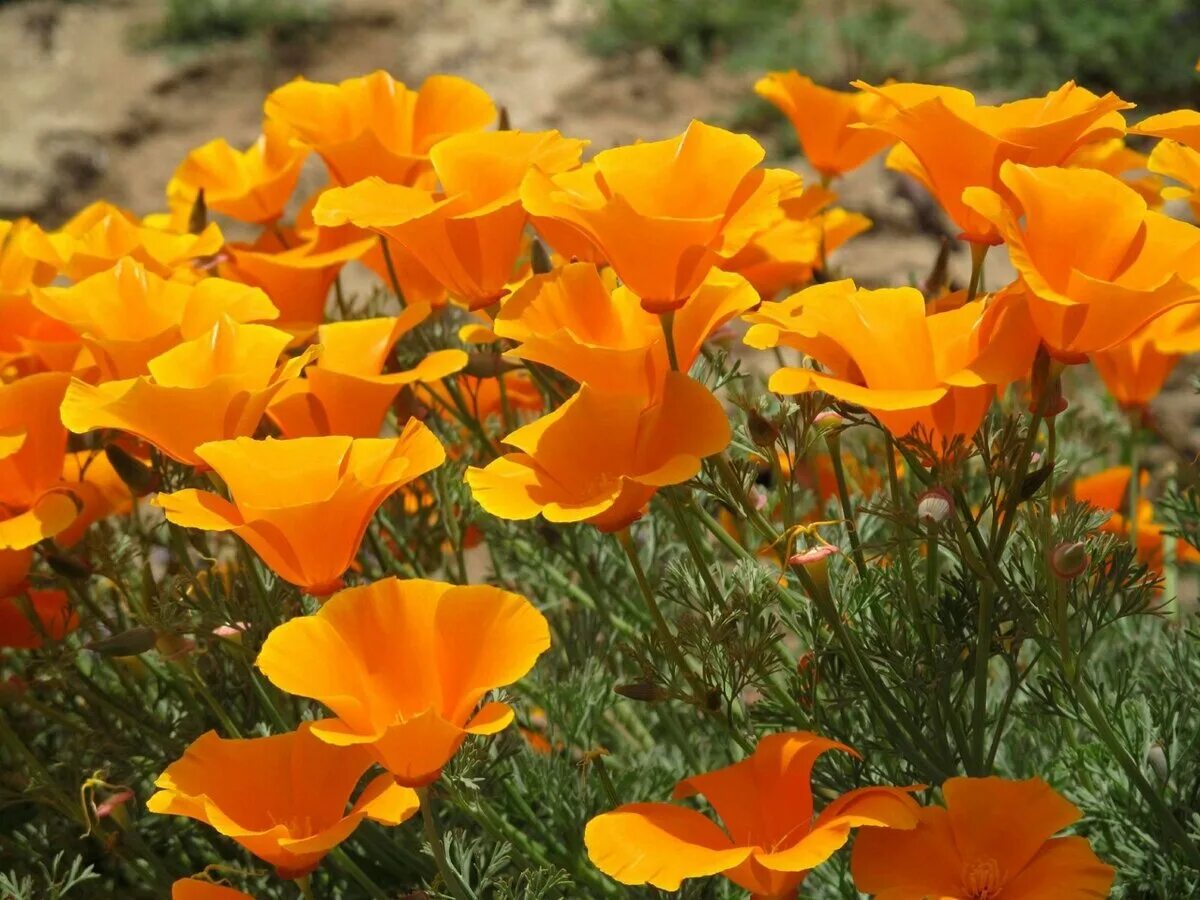
<svg viewBox="0 0 1200 900"><path fill-rule="evenodd" d="M701 794L722 824L688 806L626 803L588 822L588 857L622 884L678 890L724 875L763 900L794 896L852 829L912 828L920 809L905 788L860 787L814 815L812 764L827 750L854 754L806 731L768 734L742 762L676 785L672 799Z"/></svg>

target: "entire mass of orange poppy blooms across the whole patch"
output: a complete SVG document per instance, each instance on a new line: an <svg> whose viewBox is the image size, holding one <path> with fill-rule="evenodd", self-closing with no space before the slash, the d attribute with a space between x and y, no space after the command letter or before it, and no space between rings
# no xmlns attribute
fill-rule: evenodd
<svg viewBox="0 0 1200 900"><path fill-rule="evenodd" d="M997 107L953 88L857 89L794 72L758 83L820 173L806 186L764 168L752 138L700 121L583 161L583 140L493 128L492 100L460 78L419 90L383 72L298 79L268 97L253 145L187 156L166 212L97 203L56 230L0 223L2 643L77 626L66 594L31 587L35 551L138 509L152 487L131 490L121 469L169 461L206 478L211 490L150 503L176 527L230 533L320 599L270 634L258 667L331 715L270 737L204 734L149 808L208 822L300 878L364 818L412 816L468 736L512 720L484 701L550 646L541 613L498 588L346 588L378 509L396 494L424 502L446 458L400 412L402 394L485 438L485 424L509 428L509 450L466 474L486 512L620 532L730 445L726 407L690 372L733 323L750 348L778 352L772 391L826 395L934 457L968 443L1008 385L1037 388L1038 360L1091 361L1140 409L1200 349L1200 228L1158 211L1181 197L1200 209L1200 114L1130 127L1132 104L1074 84ZM1130 133L1162 142L1146 158ZM829 254L870 226L833 205L832 186L883 150L970 244L966 289L827 277ZM328 184L296 197L312 154ZM257 236L227 240L209 214ZM1018 278L984 292L986 251L1001 244ZM395 295L395 314L346 314L350 263ZM434 346L433 322L461 324L461 346ZM473 371L464 348L503 365ZM1058 412L1043 395L1038 414ZM1120 486L1081 482L1081 496L1094 487L1118 508L1121 474L1106 476ZM722 826L629 804L588 824L588 852L625 883L725 874L784 896L863 828L856 882L896 900L1051 884L1102 896L1111 883L1085 840L1052 836L1079 814L1038 780L952 779L944 808L919 806L916 788L864 787L816 812L809 778L827 750L852 752L806 732L763 737L676 788L703 794ZM233 893L187 881L178 895L210 888Z"/></svg>

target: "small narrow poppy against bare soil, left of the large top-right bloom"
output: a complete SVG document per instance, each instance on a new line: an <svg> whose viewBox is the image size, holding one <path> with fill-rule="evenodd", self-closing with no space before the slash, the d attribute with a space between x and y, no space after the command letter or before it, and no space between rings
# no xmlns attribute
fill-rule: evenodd
<svg viewBox="0 0 1200 900"><path fill-rule="evenodd" d="M796 70L770 72L755 83L754 90L788 118L804 158L824 179L858 168L895 143L884 132L851 127L886 115L887 101L871 94L822 88Z"/></svg>

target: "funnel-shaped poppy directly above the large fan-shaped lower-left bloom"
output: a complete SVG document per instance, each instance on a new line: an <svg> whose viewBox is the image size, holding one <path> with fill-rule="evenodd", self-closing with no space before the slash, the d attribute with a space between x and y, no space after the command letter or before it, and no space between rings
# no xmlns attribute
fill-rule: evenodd
<svg viewBox="0 0 1200 900"><path fill-rule="evenodd" d="M202 444L196 455L233 502L196 490L158 494L167 520L233 532L280 577L316 595L340 586L379 505L445 461L416 420L396 438L236 438Z"/></svg>

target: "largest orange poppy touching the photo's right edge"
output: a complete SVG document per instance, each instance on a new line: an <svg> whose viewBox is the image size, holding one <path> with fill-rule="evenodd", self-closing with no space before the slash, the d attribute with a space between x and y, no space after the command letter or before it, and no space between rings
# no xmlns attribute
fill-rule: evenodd
<svg viewBox="0 0 1200 900"><path fill-rule="evenodd" d="M988 188L964 199L1008 245L1051 353L1103 350L1200 300L1200 228L1147 209L1104 172L1006 163L1000 178L1009 202Z"/></svg>

